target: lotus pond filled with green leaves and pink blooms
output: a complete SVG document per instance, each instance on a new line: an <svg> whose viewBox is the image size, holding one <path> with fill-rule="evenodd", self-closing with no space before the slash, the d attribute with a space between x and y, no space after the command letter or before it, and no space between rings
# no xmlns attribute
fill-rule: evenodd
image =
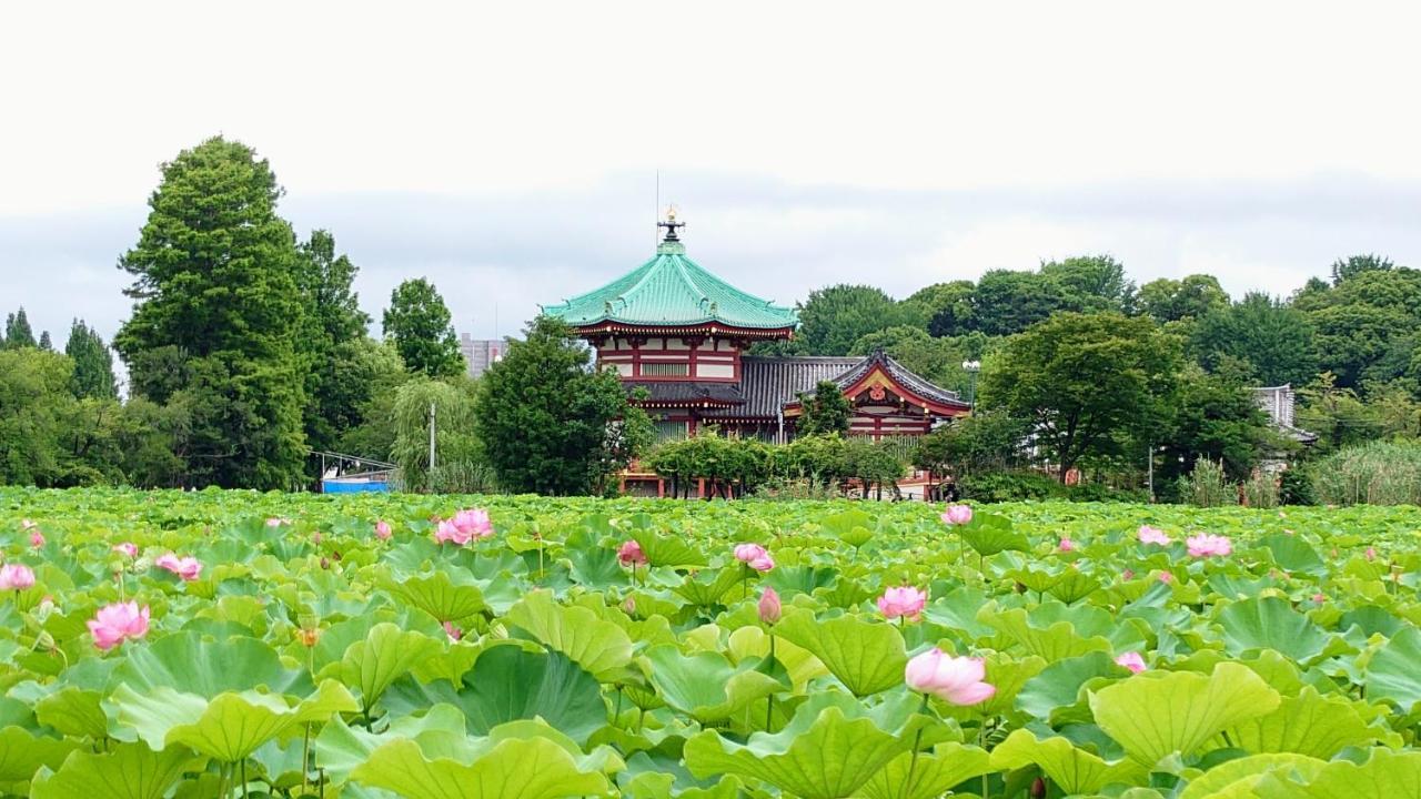
<svg viewBox="0 0 1421 799"><path fill-rule="evenodd" d="M1421 796L1415 509L945 510L0 489L0 792Z"/></svg>

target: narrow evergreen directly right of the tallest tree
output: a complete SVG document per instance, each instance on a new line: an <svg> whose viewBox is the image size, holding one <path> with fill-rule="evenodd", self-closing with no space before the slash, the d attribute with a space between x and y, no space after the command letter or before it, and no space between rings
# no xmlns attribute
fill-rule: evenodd
<svg viewBox="0 0 1421 799"><path fill-rule="evenodd" d="M337 439L360 422L360 409L369 400L369 382L341 380L350 371L342 367L361 355L358 344L369 316L360 310L360 297L351 289L358 269L344 254L335 254L330 232L313 230L298 256L308 311L300 340L308 364L306 441L314 449L334 449Z"/></svg>

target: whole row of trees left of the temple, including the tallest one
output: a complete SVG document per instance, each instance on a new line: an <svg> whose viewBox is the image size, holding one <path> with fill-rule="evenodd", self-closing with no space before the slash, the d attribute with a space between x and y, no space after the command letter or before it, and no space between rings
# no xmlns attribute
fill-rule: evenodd
<svg viewBox="0 0 1421 799"><path fill-rule="evenodd" d="M252 148L207 139L162 166L138 240L118 259L134 310L112 351L82 320L54 353L24 309L7 316L0 482L297 489L320 476L313 451L337 451L394 459L418 490L577 493L604 489L649 436L615 377L594 372L550 321L483 385L466 377L428 280L392 291L384 340L372 338L357 266L328 230L300 240L279 215L281 196ZM551 377L549 358L560 358ZM519 368L543 380L541 395L510 374Z"/></svg>

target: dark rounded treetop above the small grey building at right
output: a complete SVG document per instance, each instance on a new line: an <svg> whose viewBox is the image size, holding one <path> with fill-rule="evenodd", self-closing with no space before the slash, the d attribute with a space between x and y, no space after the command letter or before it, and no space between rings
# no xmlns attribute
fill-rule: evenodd
<svg viewBox="0 0 1421 799"><path fill-rule="evenodd" d="M1226 358L1248 364L1249 380L1263 385L1303 384L1317 371L1307 317L1258 291L1199 320L1189 348L1209 371Z"/></svg>

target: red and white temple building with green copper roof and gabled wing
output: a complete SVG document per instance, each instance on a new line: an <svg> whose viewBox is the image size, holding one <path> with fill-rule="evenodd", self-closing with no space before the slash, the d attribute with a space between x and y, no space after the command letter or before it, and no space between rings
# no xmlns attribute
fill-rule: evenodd
<svg viewBox="0 0 1421 799"><path fill-rule="evenodd" d="M776 306L720 280L686 257L675 212L657 254L585 294L544 313L567 321L614 367L645 390L658 438L716 425L729 435L789 441L801 395L831 381L854 407L851 435L874 439L922 435L969 405L908 371L882 351L861 358L749 355L757 341L793 337L794 309Z"/></svg>

